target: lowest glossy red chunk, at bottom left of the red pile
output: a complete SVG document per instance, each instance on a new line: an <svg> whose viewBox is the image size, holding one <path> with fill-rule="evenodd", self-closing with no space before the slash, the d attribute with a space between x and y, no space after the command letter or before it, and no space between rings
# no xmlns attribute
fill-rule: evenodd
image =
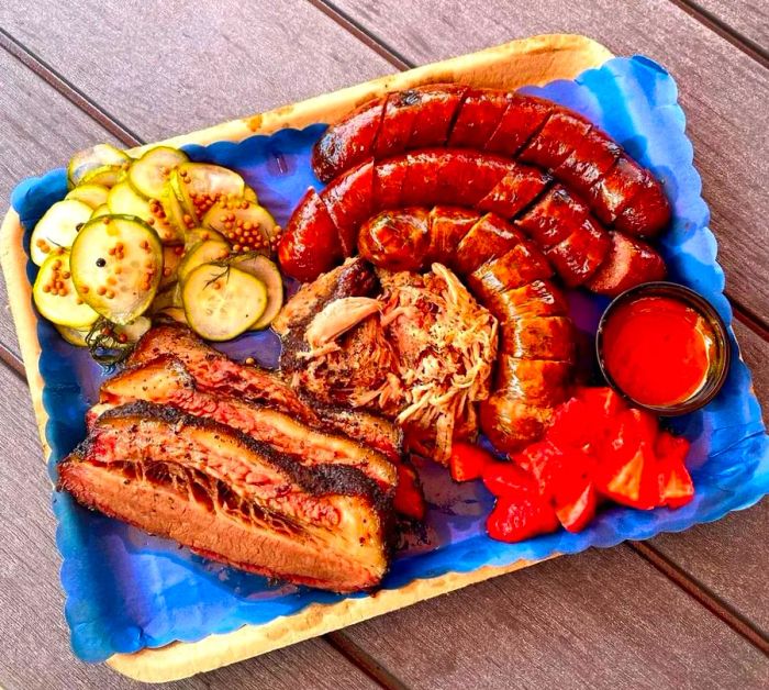
<svg viewBox="0 0 769 690"><path fill-rule="evenodd" d="M553 508L531 491L497 499L486 520L489 536L500 542L521 542L557 528L558 519Z"/></svg>

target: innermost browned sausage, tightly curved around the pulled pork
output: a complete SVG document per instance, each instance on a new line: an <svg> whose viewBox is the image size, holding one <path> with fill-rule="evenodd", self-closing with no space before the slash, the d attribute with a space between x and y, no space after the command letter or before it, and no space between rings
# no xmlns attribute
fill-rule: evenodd
<svg viewBox="0 0 769 690"><path fill-rule="evenodd" d="M364 224L358 246L377 266L420 270L438 261L465 279L501 331L481 427L503 452L539 436L553 407L567 396L575 331L566 299L550 280L553 268L536 245L493 213L437 205L380 213Z"/></svg>

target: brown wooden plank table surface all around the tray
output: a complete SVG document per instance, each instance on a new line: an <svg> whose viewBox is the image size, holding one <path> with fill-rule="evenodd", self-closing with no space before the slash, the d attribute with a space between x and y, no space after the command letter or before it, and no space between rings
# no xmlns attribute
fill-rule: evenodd
<svg viewBox="0 0 769 690"><path fill-rule="evenodd" d="M132 146L557 31L584 33L618 55L644 53L677 78L735 329L766 403L769 12L756 0L0 3L0 205L15 181L96 142ZM18 352L5 309L0 686L136 687L69 650L51 487ZM686 534L559 558L174 687L767 687L768 534L765 501Z"/></svg>

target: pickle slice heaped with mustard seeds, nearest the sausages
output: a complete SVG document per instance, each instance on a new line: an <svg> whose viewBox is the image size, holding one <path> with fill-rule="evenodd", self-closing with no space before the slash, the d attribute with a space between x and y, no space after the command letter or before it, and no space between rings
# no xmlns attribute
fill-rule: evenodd
<svg viewBox="0 0 769 690"><path fill-rule="evenodd" d="M216 202L205 213L202 223L222 233L236 253L270 254L277 227L267 209L243 198Z"/></svg>

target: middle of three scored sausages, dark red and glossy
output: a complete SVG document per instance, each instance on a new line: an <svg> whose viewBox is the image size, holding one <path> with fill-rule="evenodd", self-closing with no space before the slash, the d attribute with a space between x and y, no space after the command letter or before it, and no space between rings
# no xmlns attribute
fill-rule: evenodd
<svg viewBox="0 0 769 690"><path fill-rule="evenodd" d="M465 213L471 224L483 212L514 220L519 234L523 231L534 240L568 287L586 286L612 296L665 275L664 261L650 246L621 231L606 231L586 202L562 185L554 185L548 174L493 154L452 148L366 160L337 177L320 194L309 191L281 237L281 266L289 276L312 280L334 268L342 257L357 252L364 221L382 210L412 204L460 207L464 210L455 209L454 216ZM409 257L399 258L402 248L387 240L399 216L387 219L369 233L368 241L388 244L388 267L405 270ZM406 226L409 232L419 230L413 219ZM459 247L459 240L465 237L458 235L461 229L461 224L452 222L436 232L432 253L439 255L446 247L471 253L476 233ZM400 241L398 233L394 236ZM482 237L492 240L488 234ZM601 279L593 280L599 275Z"/></svg>

